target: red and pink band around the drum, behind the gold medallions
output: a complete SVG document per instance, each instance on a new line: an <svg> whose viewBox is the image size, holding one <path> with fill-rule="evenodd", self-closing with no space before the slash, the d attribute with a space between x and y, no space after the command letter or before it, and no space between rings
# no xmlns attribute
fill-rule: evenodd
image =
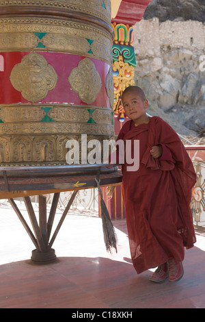
<svg viewBox="0 0 205 322"><path fill-rule="evenodd" d="M0 71L0 104L14 104L14 103L32 103L23 98L21 93L16 90L10 82L10 74L16 64L19 64L22 58L29 54L28 51L10 51L0 53L4 59L4 71ZM68 53L51 53L38 52L44 56L48 64L51 64L57 73L58 79L55 88L48 92L47 96L38 103L61 103L87 106L87 103L81 101L79 95L74 92L68 82L70 72L74 67L77 67L79 62L85 57L81 55L72 55ZM89 104L91 106L108 107L110 108L109 98L105 88L105 79L109 71L109 64L90 58L96 66L102 87L96 100Z"/></svg>

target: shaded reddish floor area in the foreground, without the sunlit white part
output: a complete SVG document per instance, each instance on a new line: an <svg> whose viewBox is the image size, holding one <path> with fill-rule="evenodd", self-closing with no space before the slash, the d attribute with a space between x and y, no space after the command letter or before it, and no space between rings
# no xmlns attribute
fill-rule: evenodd
<svg viewBox="0 0 205 322"><path fill-rule="evenodd" d="M30 260L3 264L0 307L204 308L204 253L197 248L188 253L182 280L163 284L150 282L150 271L137 275L129 262L109 258L62 257L50 264Z"/></svg>

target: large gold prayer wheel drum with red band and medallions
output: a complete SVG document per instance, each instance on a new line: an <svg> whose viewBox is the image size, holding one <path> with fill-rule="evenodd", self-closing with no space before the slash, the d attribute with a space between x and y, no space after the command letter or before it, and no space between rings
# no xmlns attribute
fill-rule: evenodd
<svg viewBox="0 0 205 322"><path fill-rule="evenodd" d="M0 1L1 166L68 165L68 140L113 137L112 44L109 0Z"/></svg>

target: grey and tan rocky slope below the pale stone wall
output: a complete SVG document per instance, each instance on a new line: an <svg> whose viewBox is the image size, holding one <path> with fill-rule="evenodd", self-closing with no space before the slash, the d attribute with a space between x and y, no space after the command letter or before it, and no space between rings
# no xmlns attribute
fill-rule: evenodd
<svg viewBox="0 0 205 322"><path fill-rule="evenodd" d="M204 136L205 75L189 49L163 50L160 57L139 59L135 83L148 97L148 113L161 116L178 134ZM204 73L205 74L205 73Z"/></svg>

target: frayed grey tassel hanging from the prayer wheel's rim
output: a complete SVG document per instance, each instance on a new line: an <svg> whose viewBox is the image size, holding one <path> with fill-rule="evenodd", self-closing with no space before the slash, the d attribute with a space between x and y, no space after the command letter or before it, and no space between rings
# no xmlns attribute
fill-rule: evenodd
<svg viewBox="0 0 205 322"><path fill-rule="evenodd" d="M98 179L95 179L95 180L96 180L96 184L98 187L98 191L100 193L102 230L103 230L103 234L104 234L105 246L106 246L107 251L109 251L110 253L111 253L112 248L115 248L116 253L118 253L115 229L114 229L113 224L111 222L105 201L103 200L103 197L102 197L102 190L100 188L100 179L99 179L99 181L98 181Z"/></svg>

